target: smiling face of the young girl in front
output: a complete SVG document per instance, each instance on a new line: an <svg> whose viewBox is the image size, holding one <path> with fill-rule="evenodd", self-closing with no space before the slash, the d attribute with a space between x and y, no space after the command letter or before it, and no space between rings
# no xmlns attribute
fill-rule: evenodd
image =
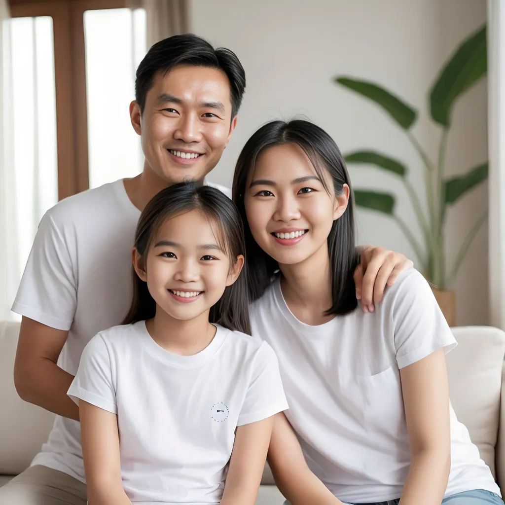
<svg viewBox="0 0 505 505"><path fill-rule="evenodd" d="M162 224L147 252L145 269L136 251L134 258L135 270L147 282L158 308L178 320L208 312L225 287L235 282L243 261L239 256L235 265L230 265L209 218L198 210Z"/></svg>

